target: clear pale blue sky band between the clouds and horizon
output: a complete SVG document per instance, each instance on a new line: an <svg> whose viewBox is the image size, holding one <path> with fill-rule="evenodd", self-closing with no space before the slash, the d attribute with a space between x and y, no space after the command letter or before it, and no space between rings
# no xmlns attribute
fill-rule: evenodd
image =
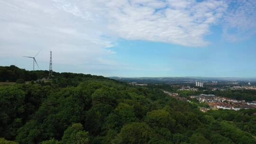
<svg viewBox="0 0 256 144"><path fill-rule="evenodd" d="M199 48L120 40L113 49L118 53L116 61L132 65L119 71L121 76L255 77L255 38L232 43L219 39L214 45Z"/></svg>

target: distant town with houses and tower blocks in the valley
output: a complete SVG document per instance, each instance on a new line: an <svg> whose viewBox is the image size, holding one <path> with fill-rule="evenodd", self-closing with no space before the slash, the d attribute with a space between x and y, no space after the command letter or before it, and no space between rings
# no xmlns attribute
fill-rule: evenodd
<svg viewBox="0 0 256 144"><path fill-rule="evenodd" d="M252 109L255 99L243 99L249 93L256 93L254 79L239 78L118 78L130 85L157 87L174 99L196 104L202 112L210 109ZM229 92L229 97L223 93ZM238 92L243 97L239 97ZM184 93L186 93L184 95ZM236 96L232 96L236 95Z"/></svg>

